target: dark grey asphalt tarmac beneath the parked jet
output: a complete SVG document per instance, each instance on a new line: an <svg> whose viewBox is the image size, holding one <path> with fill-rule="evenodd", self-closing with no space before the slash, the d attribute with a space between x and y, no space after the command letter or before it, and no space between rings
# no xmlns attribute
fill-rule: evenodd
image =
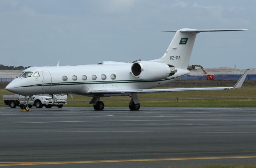
<svg viewBox="0 0 256 168"><path fill-rule="evenodd" d="M256 108L0 107L0 167L220 164L256 165Z"/></svg>

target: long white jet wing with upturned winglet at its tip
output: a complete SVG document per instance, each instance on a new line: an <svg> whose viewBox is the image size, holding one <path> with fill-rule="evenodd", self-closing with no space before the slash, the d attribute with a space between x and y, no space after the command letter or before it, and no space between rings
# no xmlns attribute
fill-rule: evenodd
<svg viewBox="0 0 256 168"><path fill-rule="evenodd" d="M240 77L238 82L233 87L212 87L212 88L170 88L170 89L134 89L134 90L110 90L110 89L95 89L90 94L132 94L132 93L154 93L154 92L177 92L177 91L198 91L198 90L229 90L240 88L244 83L249 69Z"/></svg>

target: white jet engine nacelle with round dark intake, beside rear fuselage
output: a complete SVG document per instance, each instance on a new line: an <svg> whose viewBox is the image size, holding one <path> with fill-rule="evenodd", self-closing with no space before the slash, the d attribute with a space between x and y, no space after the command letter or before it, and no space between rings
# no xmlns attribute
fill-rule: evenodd
<svg viewBox="0 0 256 168"><path fill-rule="evenodd" d="M163 79L172 73L168 64L154 61L137 61L132 64L131 72L133 76L143 80Z"/></svg>

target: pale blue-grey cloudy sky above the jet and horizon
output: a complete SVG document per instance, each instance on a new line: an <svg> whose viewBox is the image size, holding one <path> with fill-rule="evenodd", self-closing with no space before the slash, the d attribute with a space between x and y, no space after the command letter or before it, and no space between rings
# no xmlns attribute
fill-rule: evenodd
<svg viewBox="0 0 256 168"><path fill-rule="evenodd" d="M190 64L256 68L255 0L0 0L0 64L55 66L162 57L174 33L199 33Z"/></svg>

